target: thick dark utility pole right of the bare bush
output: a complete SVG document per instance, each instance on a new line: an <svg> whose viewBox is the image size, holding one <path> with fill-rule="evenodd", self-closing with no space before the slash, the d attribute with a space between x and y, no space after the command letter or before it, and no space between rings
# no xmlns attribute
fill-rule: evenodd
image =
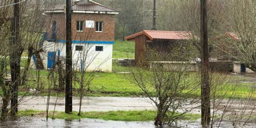
<svg viewBox="0 0 256 128"><path fill-rule="evenodd" d="M211 121L210 77L207 30L207 0L201 0L201 124L206 127Z"/></svg>

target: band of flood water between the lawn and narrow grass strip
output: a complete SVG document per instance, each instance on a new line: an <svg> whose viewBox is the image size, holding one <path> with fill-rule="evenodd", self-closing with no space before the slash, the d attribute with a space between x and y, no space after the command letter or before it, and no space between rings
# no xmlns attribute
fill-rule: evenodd
<svg viewBox="0 0 256 128"><path fill-rule="evenodd" d="M50 98L49 110L55 108L57 97ZM24 97L19 110L46 110L47 97L28 96ZM82 111L117 111L117 110L154 110L154 106L149 98L140 97L84 97L82 101ZM65 110L65 98L57 99L56 111ZM73 97L73 110L79 110L79 98Z"/></svg>

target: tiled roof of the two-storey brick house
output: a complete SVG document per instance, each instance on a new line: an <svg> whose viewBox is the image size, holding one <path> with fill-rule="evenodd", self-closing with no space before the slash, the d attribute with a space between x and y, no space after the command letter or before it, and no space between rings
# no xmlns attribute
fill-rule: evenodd
<svg viewBox="0 0 256 128"><path fill-rule="evenodd" d="M64 10L66 4L58 4L58 5L54 5L49 9L45 9L45 10L50 10L50 11L54 11L54 10ZM107 12L117 12L117 10L109 8L107 6L104 6L102 4L96 3L91 1L88 4L72 4L71 10L78 10L78 11L107 11Z"/></svg>

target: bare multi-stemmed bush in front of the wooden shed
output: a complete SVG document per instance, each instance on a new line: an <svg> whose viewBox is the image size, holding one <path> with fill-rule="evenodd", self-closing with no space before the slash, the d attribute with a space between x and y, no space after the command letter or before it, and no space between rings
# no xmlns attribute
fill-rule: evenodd
<svg viewBox="0 0 256 128"><path fill-rule="evenodd" d="M155 125L172 125L174 121L191 111L186 105L193 105L198 100L190 99L191 94L199 86L199 80L188 80L190 77L190 62L180 64L163 63L173 60L190 60L192 53L187 51L180 55L184 46L176 47L172 53L159 52L159 50L147 51L146 67L130 68L130 74L126 75L132 83L136 84L147 97L153 102L157 109ZM139 62L144 63L145 62ZM182 109L181 113L177 113Z"/></svg>

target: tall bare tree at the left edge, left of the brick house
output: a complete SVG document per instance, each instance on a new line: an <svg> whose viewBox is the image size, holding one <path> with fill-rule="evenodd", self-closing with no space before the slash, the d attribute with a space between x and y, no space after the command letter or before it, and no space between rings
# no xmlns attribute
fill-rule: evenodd
<svg viewBox="0 0 256 128"><path fill-rule="evenodd" d="M31 65L31 56L39 51L39 41L41 39L44 17L42 16L42 8L47 5L43 5L40 1L1 1L0 12L3 21L1 20L1 35L0 38L3 41L1 43L1 55L5 57L5 61L10 57L11 71L7 70L5 66L5 74L11 73L11 115L16 116L17 106L22 103L23 97L18 98L18 90L21 87L25 90L25 95L28 94L31 84L26 83L28 80L28 70ZM11 10L12 7L14 10ZM11 12L14 16L10 15ZM13 17L13 18L12 18ZM12 20L11 20L12 19ZM12 21L12 24L10 23ZM10 28L12 28L10 30ZM11 39L11 40L9 40ZM6 43L9 40L9 44ZM2 50L3 48L3 50ZM22 53L26 52L28 48L28 60L25 64L24 70L21 69L21 57ZM8 89L9 90L9 89Z"/></svg>

